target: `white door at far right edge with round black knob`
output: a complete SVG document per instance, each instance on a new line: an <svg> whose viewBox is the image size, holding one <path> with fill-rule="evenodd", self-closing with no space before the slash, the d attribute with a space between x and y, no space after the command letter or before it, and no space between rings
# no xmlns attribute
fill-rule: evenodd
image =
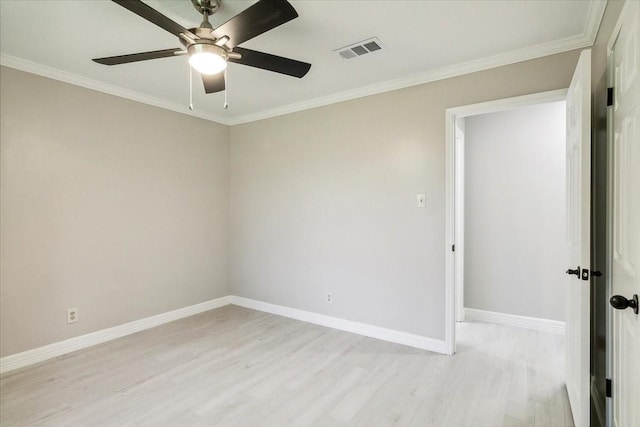
<svg viewBox="0 0 640 427"><path fill-rule="evenodd" d="M640 426L640 2L627 1L613 47L613 424ZM615 304L617 302L617 304ZM637 306L637 304L636 304Z"/></svg>

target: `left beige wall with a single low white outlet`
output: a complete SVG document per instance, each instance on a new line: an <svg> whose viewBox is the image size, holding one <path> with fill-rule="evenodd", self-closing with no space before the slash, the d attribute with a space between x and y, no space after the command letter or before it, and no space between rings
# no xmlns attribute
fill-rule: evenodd
<svg viewBox="0 0 640 427"><path fill-rule="evenodd" d="M227 126L0 83L2 356L229 293Z"/></svg>

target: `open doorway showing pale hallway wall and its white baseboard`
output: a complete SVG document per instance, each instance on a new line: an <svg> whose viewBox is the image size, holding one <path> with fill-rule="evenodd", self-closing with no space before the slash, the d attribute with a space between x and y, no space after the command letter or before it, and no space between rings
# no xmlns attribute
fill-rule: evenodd
<svg viewBox="0 0 640 427"><path fill-rule="evenodd" d="M554 280L564 267L566 95L557 90L447 110L447 229L455 242L447 258L453 276L447 286L454 288L447 307L458 322L563 332L563 288ZM554 263L558 271L551 271ZM454 353L449 320L446 334Z"/></svg>

